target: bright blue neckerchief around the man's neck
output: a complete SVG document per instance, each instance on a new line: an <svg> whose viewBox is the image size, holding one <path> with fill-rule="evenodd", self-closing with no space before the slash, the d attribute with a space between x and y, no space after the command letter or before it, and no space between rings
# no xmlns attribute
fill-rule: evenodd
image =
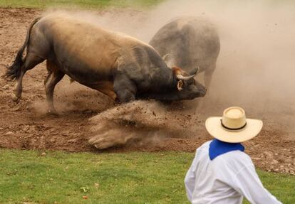
<svg viewBox="0 0 295 204"><path fill-rule="evenodd" d="M229 151L244 151L244 149L244 146L242 146L240 143L228 143L218 139L213 139L213 141L211 141L209 144L209 157L210 160L213 160L217 156L225 154Z"/></svg>

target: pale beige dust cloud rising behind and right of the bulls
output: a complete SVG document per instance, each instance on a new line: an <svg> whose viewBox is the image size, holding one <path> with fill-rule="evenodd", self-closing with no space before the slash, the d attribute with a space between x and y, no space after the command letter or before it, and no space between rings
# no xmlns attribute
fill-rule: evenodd
<svg viewBox="0 0 295 204"><path fill-rule="evenodd" d="M208 18L218 27L221 50L204 101L261 114L294 107L294 9L291 1L165 1L148 14L119 16L107 24L148 43L177 16Z"/></svg>

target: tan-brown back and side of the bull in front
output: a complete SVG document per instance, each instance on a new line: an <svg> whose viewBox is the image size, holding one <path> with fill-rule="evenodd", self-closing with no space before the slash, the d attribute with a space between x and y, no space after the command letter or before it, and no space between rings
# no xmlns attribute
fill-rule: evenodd
<svg viewBox="0 0 295 204"><path fill-rule="evenodd" d="M36 23L36 33L51 46L50 55L58 67L74 80L95 87L95 83L112 81L113 71L122 53L137 40L107 31L95 23L68 14L50 14ZM50 57L48 57L50 58Z"/></svg>

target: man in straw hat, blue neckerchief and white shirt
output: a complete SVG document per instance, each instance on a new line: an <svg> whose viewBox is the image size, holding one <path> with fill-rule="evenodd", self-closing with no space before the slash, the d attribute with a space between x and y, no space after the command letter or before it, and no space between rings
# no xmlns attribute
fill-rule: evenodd
<svg viewBox="0 0 295 204"><path fill-rule="evenodd" d="M206 129L214 137L200 146L185 176L187 198L193 204L281 203L260 181L240 142L259 134L262 121L246 119L244 109L229 107L223 117L209 117Z"/></svg>

